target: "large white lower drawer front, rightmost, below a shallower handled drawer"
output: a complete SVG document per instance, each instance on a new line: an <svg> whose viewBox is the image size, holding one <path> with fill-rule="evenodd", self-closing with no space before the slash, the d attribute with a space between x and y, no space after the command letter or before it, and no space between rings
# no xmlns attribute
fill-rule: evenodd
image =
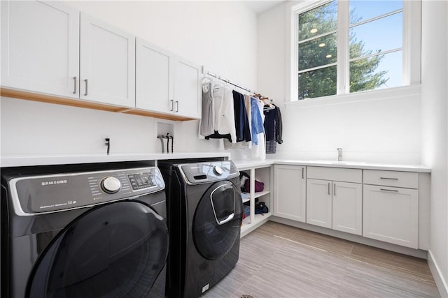
<svg viewBox="0 0 448 298"><path fill-rule="evenodd" d="M416 189L364 184L363 236L417 248L418 195Z"/></svg>

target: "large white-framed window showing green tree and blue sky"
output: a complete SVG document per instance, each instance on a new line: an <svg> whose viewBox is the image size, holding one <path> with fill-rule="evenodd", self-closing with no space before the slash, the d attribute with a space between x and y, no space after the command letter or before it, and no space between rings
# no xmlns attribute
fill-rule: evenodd
<svg viewBox="0 0 448 298"><path fill-rule="evenodd" d="M419 61L410 57L419 54L411 51L419 45L409 31L420 22L408 21L412 2L304 1L293 7L292 100L419 82Z"/></svg>

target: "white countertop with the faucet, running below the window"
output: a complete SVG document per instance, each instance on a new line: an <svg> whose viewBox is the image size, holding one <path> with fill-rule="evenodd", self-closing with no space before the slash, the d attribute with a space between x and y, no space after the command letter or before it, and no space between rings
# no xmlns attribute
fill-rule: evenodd
<svg viewBox="0 0 448 298"><path fill-rule="evenodd" d="M298 161L290 159L266 159L265 161L233 161L239 169L263 167L265 165L307 165L316 167L345 167L366 170L394 170L405 172L431 172L425 165L408 165L392 163L364 163L360 161Z"/></svg>

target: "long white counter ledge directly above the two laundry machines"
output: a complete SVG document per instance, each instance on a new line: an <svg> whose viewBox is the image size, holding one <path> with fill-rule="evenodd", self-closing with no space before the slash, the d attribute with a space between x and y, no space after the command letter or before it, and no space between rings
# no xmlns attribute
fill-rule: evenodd
<svg viewBox="0 0 448 298"><path fill-rule="evenodd" d="M113 163L120 161L161 161L184 158L230 158L228 152L190 152L175 154L79 154L48 156L1 156L0 167L22 167L29 165L69 165L77 163Z"/></svg>

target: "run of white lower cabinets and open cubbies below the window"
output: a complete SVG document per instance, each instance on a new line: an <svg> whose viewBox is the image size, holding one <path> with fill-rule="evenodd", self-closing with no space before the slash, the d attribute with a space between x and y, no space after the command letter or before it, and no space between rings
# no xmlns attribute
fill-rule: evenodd
<svg viewBox="0 0 448 298"><path fill-rule="evenodd" d="M274 221L302 222L389 244L428 249L428 173L276 164L271 179L268 169L240 169L251 177L272 181L271 188L255 193L251 179L251 192L246 195L251 214L241 233L266 219L253 211L255 198L260 198L267 205L272 202L272 214L277 217ZM273 189L272 197L269 189ZM322 231L337 237L336 232Z"/></svg>

